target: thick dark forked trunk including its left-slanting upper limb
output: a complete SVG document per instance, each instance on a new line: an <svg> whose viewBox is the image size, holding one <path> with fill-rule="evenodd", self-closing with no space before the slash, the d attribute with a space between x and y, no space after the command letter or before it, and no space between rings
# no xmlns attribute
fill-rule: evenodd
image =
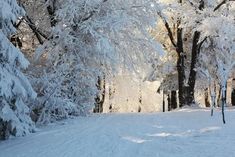
<svg viewBox="0 0 235 157"><path fill-rule="evenodd" d="M178 0L178 3L182 4L182 0ZM204 8L204 0L199 1L199 10L203 10ZM161 15L160 15L161 16ZM161 16L162 17L162 16ZM162 17L163 18L163 17ZM164 18L163 18L164 19ZM186 82L185 77L185 58L186 53L184 52L184 46L183 46L183 28L180 27L181 19L180 17L177 20L177 30L176 30L176 41L174 40L173 32L171 31L171 28L168 24L168 22L164 19L165 27L168 31L169 39L172 43L172 45L176 48L176 52L178 54L177 59L177 72L178 72L178 89L179 89L179 107L185 106L185 105L191 105L194 103L194 88L195 88L195 82L196 82L196 63L198 61L198 55L200 52L200 48L202 43L205 41L205 39L198 43L200 38L200 32L194 32L193 36L193 47L192 47L192 60L191 60L191 67L190 67L190 75L189 80ZM186 83L188 85L186 85Z"/></svg>

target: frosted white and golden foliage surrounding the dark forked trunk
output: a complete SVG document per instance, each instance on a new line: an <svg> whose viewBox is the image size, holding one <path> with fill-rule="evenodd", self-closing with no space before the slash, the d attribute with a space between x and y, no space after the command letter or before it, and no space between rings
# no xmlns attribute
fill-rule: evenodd
<svg viewBox="0 0 235 157"><path fill-rule="evenodd" d="M152 30L151 32L156 40L164 45L166 53L165 56L161 57L162 62L158 62L158 64L153 66L153 72L150 73L149 80L164 77L165 81L175 82L169 76L176 73L177 56L175 47L172 46L172 41L176 42L177 37L175 31L179 19L179 27L183 29L183 48L187 55L185 58L186 77L189 74L193 35L194 32L198 31L200 32L198 44L200 45L202 43L198 61L203 63L200 63L200 66L196 65L194 69L197 71L197 82L200 82L197 88L203 89L207 87L205 85L208 85L208 79L218 78L219 83L228 79L234 66L235 3L234 1L221 2L223 1L190 0L182 1L182 3L174 0L159 1L158 6L160 6L159 9L161 10L159 16L161 20L157 21L158 31ZM222 5L219 5L220 3ZM217 6L219 8L215 9ZM172 30L172 36L174 38L172 41L169 39L165 22L169 24L169 28ZM215 77L215 75L218 76ZM166 88L171 88L168 87L170 86L168 83L166 85Z"/></svg>

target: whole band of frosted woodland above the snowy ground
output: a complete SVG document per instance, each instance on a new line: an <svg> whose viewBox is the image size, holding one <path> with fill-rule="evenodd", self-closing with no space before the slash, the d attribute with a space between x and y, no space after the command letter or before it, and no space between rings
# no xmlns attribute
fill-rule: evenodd
<svg viewBox="0 0 235 157"><path fill-rule="evenodd" d="M124 72L160 81L164 110L201 91L213 114L234 64L234 0L1 0L0 139L102 113Z"/></svg>

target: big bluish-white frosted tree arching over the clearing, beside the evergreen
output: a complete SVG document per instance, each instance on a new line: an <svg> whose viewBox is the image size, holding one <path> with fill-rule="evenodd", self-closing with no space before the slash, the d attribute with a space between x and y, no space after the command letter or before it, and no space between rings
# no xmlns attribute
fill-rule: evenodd
<svg viewBox="0 0 235 157"><path fill-rule="evenodd" d="M60 98L68 102L65 105L73 103L74 112L63 109L68 112L59 117L87 114L95 103L98 76L123 67L137 73L146 70L148 61L158 56L157 45L147 31L154 26L153 4L140 0L63 1L56 12L53 39L38 49L39 56L40 52L47 56L47 70L37 83L46 84L38 89L42 91L41 104ZM46 110L66 108L53 104Z"/></svg>

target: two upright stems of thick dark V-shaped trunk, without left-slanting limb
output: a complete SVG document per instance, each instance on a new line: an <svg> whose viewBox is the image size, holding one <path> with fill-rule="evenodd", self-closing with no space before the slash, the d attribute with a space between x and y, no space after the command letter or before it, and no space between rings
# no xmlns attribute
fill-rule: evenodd
<svg viewBox="0 0 235 157"><path fill-rule="evenodd" d="M182 1L180 1L182 3ZM199 9L203 10L204 8L204 1L200 1ZM193 35L193 43L192 43L192 51L191 51L191 66L190 66L190 73L189 73L189 79L188 79L188 86L185 86L185 63L184 58L186 56L184 50L183 50L183 30L182 28L179 28L180 22L178 21L178 29L177 29L177 48L176 51L178 53L178 61L177 61L177 71L178 71L178 81L179 81L179 102L180 107L184 105L191 105L195 103L194 99L194 89L195 89L195 82L196 82L196 64L198 62L198 56L200 53L200 49L202 46L202 43L204 40L200 43L198 43L200 39L200 32L195 31Z"/></svg>

